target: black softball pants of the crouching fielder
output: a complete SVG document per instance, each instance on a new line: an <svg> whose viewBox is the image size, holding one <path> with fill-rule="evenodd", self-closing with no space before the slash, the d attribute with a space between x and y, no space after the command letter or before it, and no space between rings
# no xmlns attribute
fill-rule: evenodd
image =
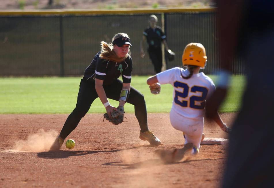
<svg viewBox="0 0 274 188"><path fill-rule="evenodd" d="M107 98L119 101L122 85L123 83L121 80L115 80L111 85L103 85ZM86 78L82 78L76 107L68 116L61 130L61 138L65 140L65 138L67 138L67 136L77 127L78 123L86 115L92 102L97 97L98 95L95 90L95 81L88 81ZM141 131L147 131L148 120L144 96L139 91L131 87L130 95L126 102L134 105L135 116L139 122Z"/></svg>

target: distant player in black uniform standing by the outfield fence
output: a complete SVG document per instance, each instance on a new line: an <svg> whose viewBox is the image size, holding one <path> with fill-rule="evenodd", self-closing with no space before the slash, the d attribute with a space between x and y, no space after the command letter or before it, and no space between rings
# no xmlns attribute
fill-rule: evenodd
<svg viewBox="0 0 274 188"><path fill-rule="evenodd" d="M143 42L145 39L149 45L148 47L148 54L149 58L154 65L154 70L156 73L161 72L162 69L162 42L165 46L165 50L169 51L166 42L166 35L162 32L162 29L156 26L156 22L158 18L155 15L151 15L149 18L150 27L145 29L143 32L143 38L140 42L141 47L141 57L145 56L145 52L143 50Z"/></svg>

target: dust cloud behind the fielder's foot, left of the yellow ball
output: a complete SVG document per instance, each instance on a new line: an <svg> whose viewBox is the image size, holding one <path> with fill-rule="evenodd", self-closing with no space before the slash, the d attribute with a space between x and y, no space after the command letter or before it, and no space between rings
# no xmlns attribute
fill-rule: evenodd
<svg viewBox="0 0 274 188"><path fill-rule="evenodd" d="M48 151L54 142L57 132L39 129L37 133L29 135L26 140L16 140L10 152L42 152Z"/></svg>

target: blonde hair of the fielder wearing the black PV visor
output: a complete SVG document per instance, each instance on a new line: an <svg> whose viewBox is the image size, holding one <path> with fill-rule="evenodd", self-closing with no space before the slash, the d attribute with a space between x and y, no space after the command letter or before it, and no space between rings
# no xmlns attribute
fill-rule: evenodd
<svg viewBox="0 0 274 188"><path fill-rule="evenodd" d="M126 33L118 33L116 35L114 35L114 37L112 38L112 42L120 37L127 37L129 38L129 36ZM101 59L107 59L110 61L114 61L114 62L121 62L124 61L128 56L130 55L130 50L129 53L126 54L125 57L118 57L116 55L116 53L113 50L113 45L110 43L106 43L104 41L101 42L101 53L100 53L100 58Z"/></svg>

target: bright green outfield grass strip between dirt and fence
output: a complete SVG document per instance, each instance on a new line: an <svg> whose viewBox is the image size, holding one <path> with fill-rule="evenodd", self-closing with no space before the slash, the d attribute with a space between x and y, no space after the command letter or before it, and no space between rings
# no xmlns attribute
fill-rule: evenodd
<svg viewBox="0 0 274 188"><path fill-rule="evenodd" d="M216 81L216 76L210 76ZM159 95L150 93L146 84L148 76L133 76L132 86L145 95L148 112L169 112L172 103L172 86L162 85ZM1 114L63 114L70 113L77 101L81 77L66 78L0 78ZM245 85L244 76L233 76L232 87L220 112L237 112ZM109 100L113 106L118 101ZM134 112L131 104L126 112ZM105 108L99 98L92 104L89 113L103 113Z"/></svg>

